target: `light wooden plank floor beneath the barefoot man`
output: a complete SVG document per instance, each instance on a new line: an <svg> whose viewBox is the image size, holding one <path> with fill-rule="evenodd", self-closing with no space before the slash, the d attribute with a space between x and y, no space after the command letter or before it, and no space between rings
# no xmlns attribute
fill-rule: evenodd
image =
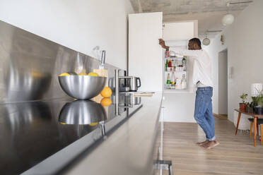
<svg viewBox="0 0 263 175"><path fill-rule="evenodd" d="M173 162L174 174L263 174L263 147L253 146L249 133L238 132L228 120L215 118L216 137L221 143L211 150L196 145L205 140L197 123L165 123L163 159Z"/></svg>

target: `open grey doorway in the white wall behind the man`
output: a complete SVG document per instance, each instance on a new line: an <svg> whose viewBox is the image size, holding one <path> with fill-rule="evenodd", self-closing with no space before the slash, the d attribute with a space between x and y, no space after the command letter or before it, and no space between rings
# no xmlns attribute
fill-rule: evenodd
<svg viewBox="0 0 263 175"><path fill-rule="evenodd" d="M218 114L228 115L228 50L218 53Z"/></svg>

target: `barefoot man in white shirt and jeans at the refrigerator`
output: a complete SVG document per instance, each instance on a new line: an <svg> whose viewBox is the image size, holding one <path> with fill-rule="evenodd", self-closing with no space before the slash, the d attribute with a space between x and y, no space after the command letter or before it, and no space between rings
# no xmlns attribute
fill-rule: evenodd
<svg viewBox="0 0 263 175"><path fill-rule="evenodd" d="M215 123L212 111L212 96L213 96L213 83L212 83L212 64L208 54L201 49L201 42L198 38L189 40L188 50L177 49L176 47L168 47L165 41L159 39L159 44L166 51L175 52L175 54L189 56L194 59L193 68L193 83L197 86L197 94L195 97L194 119L206 134L206 140L197 143L202 147L211 149L219 145L215 136Z"/></svg>

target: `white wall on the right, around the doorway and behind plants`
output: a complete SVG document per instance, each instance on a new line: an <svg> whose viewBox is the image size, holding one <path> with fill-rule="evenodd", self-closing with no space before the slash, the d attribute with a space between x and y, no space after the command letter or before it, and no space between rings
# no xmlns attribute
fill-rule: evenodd
<svg viewBox="0 0 263 175"><path fill-rule="evenodd" d="M240 95L243 92L250 94L250 85L252 83L263 83L263 1L255 0L250 6L245 8L242 13L235 18L235 21L226 30L223 35L226 38L228 48L228 67L233 67L233 75L228 79L228 119L233 121L233 109L238 108ZM209 54L216 59L218 51L221 51L220 36L212 41L206 49ZM214 68L218 63L214 63ZM218 70L214 71L214 80L218 80ZM216 90L218 93L218 90ZM214 97L214 109L216 109L216 100ZM217 112L218 110L215 110Z"/></svg>

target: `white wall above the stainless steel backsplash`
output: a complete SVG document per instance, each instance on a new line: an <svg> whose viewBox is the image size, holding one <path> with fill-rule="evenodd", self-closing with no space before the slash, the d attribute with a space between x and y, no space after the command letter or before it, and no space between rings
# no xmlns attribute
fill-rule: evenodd
<svg viewBox="0 0 263 175"><path fill-rule="evenodd" d="M1 0L0 20L78 52L95 57L106 50L106 62L127 68L129 0Z"/></svg>

